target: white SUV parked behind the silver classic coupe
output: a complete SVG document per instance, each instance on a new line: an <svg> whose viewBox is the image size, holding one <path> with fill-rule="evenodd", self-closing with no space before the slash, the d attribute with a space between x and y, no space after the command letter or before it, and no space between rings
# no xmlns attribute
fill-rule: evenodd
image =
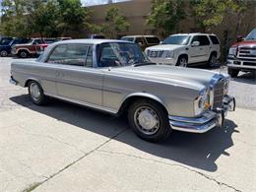
<svg viewBox="0 0 256 192"><path fill-rule="evenodd" d="M158 64L214 66L221 56L220 40L212 33L178 33L168 36L160 45L146 48L145 53Z"/></svg>

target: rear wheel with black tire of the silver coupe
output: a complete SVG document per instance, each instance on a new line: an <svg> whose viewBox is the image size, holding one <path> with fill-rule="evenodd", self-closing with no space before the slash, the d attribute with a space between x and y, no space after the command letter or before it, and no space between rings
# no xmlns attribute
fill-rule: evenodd
<svg viewBox="0 0 256 192"><path fill-rule="evenodd" d="M29 94L34 104L43 105L46 103L46 96L43 94L43 90L37 82L30 81L28 87L29 87ZM34 94L34 91L32 89L38 89L38 96Z"/></svg>

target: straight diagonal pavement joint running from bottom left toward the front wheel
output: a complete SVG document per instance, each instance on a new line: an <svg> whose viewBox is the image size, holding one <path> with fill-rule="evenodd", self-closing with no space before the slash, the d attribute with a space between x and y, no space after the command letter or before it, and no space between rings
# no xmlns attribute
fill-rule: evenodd
<svg viewBox="0 0 256 192"><path fill-rule="evenodd" d="M61 168L60 170L58 170L57 172L51 174L49 177L47 177L46 179L44 179L41 182L36 182L36 183L32 183L32 185L30 185L29 187L27 187L26 189L23 190L23 192L31 192L34 189L36 189L37 187L41 186L43 183L49 181L50 179L52 179L53 177L57 176L58 174L60 174L61 172L63 172L64 170L66 170L67 168L69 168L70 166L76 164L77 162L79 162L80 160L83 160L84 158L88 157L89 155L93 154L94 152L96 152L99 148L101 148L102 146L106 145L108 142L110 142L111 140L115 139L116 137L118 137L119 135L123 134L125 131L127 131L127 128L124 128L122 131L118 132L117 134L115 134L114 136L110 137L108 140L106 140L105 142L103 142L102 144L98 145L94 150L90 151L89 153L85 153L82 157L80 157L77 160L72 161L71 163L69 163L68 165L66 165L65 167Z"/></svg>

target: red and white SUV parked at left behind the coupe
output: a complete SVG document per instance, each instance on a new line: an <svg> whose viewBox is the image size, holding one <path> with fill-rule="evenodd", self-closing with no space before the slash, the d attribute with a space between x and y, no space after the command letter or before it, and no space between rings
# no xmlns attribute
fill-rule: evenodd
<svg viewBox="0 0 256 192"><path fill-rule="evenodd" d="M39 55L48 44L41 38L32 38L25 44L16 44L12 47L12 54L21 58Z"/></svg>

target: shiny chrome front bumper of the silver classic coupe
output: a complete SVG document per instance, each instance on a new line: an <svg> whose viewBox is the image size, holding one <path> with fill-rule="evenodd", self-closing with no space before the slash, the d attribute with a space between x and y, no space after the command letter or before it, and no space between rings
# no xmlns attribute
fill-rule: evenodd
<svg viewBox="0 0 256 192"><path fill-rule="evenodd" d="M232 96L224 96L223 108L217 108L214 111L207 110L200 117L169 116L169 124L173 130L205 133L214 127L223 127L224 117L227 111L234 110L235 98Z"/></svg>

